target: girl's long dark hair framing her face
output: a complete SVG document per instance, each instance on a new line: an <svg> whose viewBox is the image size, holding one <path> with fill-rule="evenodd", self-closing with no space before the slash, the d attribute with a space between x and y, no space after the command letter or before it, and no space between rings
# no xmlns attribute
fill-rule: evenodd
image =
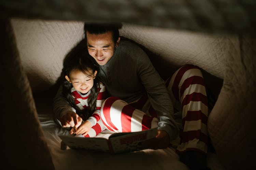
<svg viewBox="0 0 256 170"><path fill-rule="evenodd" d="M97 74L94 78L94 85L90 90L90 95L88 97L88 106L89 110L86 112L82 112L79 107L75 105L75 101L71 95L72 84L67 81L65 75L70 78L70 73L73 70L82 71L88 77L94 78L94 72L99 72L99 66L97 65L96 61L91 57L87 50L82 50L79 53L76 53L73 57L68 57L63 62L63 69L62 69L62 88L63 88L63 95L69 102L69 104L75 108L77 113L83 113L88 118L96 108L96 100L99 94L99 81L97 78Z"/></svg>

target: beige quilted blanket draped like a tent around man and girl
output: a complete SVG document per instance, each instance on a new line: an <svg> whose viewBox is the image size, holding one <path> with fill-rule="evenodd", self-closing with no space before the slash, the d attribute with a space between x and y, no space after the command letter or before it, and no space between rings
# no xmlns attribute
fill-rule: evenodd
<svg viewBox="0 0 256 170"><path fill-rule="evenodd" d="M53 87L63 57L83 37L82 20L115 20L124 23L122 36L155 54L159 72L169 74L189 63L223 80L208 120L210 138L226 169L255 169L255 2L47 2L0 2L1 72L8 82L1 84L6 97L3 127L9 127L3 145L17 153L4 149L8 165L17 160L20 166L54 168L32 92ZM105 10L97 10L102 4ZM9 17L25 19L10 22ZM28 159L32 164L25 165Z"/></svg>

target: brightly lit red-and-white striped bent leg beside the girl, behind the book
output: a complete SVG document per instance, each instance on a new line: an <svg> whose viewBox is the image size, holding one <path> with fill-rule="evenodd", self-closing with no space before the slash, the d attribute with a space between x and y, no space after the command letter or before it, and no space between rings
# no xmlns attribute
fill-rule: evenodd
<svg viewBox="0 0 256 170"><path fill-rule="evenodd" d="M158 127L158 119L146 115L117 97L106 99L101 107L101 119L112 132L138 132Z"/></svg>

